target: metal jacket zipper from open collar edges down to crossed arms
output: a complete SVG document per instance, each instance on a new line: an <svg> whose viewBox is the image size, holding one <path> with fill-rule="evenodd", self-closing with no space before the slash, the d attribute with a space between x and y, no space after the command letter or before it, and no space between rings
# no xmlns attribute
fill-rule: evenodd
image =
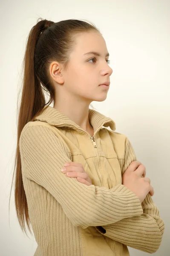
<svg viewBox="0 0 170 256"><path fill-rule="evenodd" d="M107 121L107 122L108 122L108 121ZM104 123L105 123L105 122L104 122ZM103 125L104 125L104 123L103 123ZM72 124L70 124L70 123L60 123L60 124L52 123L52 125L57 126L57 125L72 125ZM102 126L103 126L103 125L102 125ZM104 184L103 184L103 177L102 177L101 172L100 172L100 169L99 169L100 157L99 157L97 145L96 145L96 142L95 142L95 134L97 133L97 131L94 133L93 136L91 136L91 134L89 134L89 133L88 133L87 131L85 131L84 129L79 128L79 127L77 127L76 125L72 125L72 126L75 126L75 127L78 128L79 130L84 131L86 134L89 135L89 137L90 137L90 139L91 139L91 141L92 141L92 145L94 146L95 151L96 151L96 155L97 155L97 170L98 170L98 175L99 175L99 177L100 177L101 186L104 187Z"/></svg>

